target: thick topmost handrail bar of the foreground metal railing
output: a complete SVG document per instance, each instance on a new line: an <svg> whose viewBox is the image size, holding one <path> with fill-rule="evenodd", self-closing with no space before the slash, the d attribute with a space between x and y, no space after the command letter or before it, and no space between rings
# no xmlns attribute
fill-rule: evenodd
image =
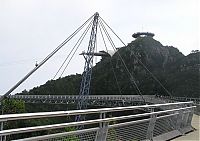
<svg viewBox="0 0 200 141"><path fill-rule="evenodd" d="M35 119L45 117L57 117L57 116L71 116L71 115L82 115L91 113L106 113L116 112L124 110L133 110L138 108L156 108L160 106L170 105L181 105L181 104L192 104L193 102L177 102L177 103L164 103L164 104L153 104L153 105L141 105L141 106L128 106L128 107L115 107L115 108L100 108L100 109L87 109L87 110L71 110L71 111L57 111L57 112L39 112L39 113L23 113L23 114L8 114L0 115L0 122L20 119Z"/></svg>

